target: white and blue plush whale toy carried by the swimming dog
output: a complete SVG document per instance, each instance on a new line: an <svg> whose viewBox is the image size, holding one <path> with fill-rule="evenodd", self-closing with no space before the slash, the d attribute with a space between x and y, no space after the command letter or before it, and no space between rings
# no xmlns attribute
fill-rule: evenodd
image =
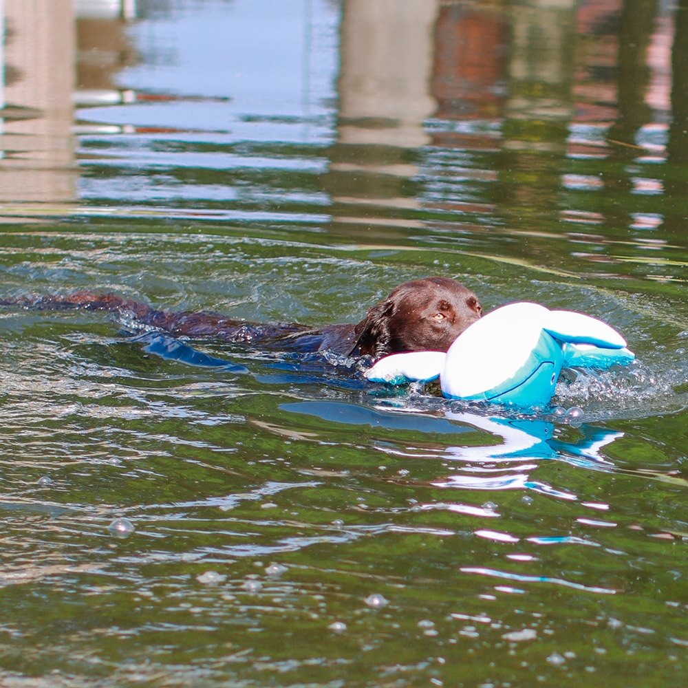
<svg viewBox="0 0 688 688"><path fill-rule="evenodd" d="M439 377L442 394L451 399L546 406L562 367L630 363L635 356L625 346L619 332L590 316L510 303L473 323L446 354L391 354L365 376L392 385Z"/></svg>

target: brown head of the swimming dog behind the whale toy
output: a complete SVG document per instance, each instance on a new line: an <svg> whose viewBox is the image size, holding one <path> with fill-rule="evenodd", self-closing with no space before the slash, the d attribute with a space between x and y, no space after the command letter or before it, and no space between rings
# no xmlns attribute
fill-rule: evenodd
<svg viewBox="0 0 688 688"><path fill-rule="evenodd" d="M460 282L425 277L400 284L356 325L352 351L383 356L402 351L447 351L482 315L480 301Z"/></svg>

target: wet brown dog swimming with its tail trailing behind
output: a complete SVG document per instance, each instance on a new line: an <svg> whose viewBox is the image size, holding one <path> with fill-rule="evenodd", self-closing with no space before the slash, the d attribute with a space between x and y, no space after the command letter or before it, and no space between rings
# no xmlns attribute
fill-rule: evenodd
<svg viewBox="0 0 688 688"><path fill-rule="evenodd" d="M80 308L131 314L142 325L152 325L172 336L213 336L261 347L376 357L403 351L447 351L455 338L482 314L475 294L447 277L425 277L401 284L387 299L374 305L357 325L325 325L315 329L289 323L244 323L216 313L153 310L115 294L92 292L1 303L41 310Z"/></svg>

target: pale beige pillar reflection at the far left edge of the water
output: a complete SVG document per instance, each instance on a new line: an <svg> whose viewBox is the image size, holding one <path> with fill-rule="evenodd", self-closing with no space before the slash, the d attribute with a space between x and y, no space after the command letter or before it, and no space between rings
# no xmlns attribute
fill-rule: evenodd
<svg viewBox="0 0 688 688"><path fill-rule="evenodd" d="M72 0L4 0L5 124L1 201L73 200Z"/></svg>

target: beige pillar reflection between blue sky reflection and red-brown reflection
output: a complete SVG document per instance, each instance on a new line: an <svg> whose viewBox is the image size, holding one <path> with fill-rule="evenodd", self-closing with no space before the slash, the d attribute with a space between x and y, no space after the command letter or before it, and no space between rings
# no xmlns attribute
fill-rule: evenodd
<svg viewBox="0 0 688 688"><path fill-rule="evenodd" d="M418 205L410 178L418 173L414 149L430 141L423 121L437 108L430 80L439 3L344 0L338 142L322 179L340 222Z"/></svg>

